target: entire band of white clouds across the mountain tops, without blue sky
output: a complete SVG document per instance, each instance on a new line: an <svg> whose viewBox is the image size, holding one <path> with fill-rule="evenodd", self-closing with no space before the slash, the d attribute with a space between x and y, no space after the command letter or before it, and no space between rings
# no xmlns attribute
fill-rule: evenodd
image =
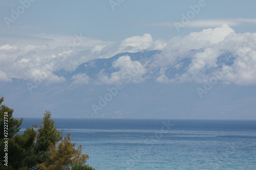
<svg viewBox="0 0 256 170"><path fill-rule="evenodd" d="M254 19L240 19L240 22L253 22ZM232 25L232 24L231 24ZM153 40L150 34L133 36L121 42L105 42L103 40L61 35L0 36L0 81L10 82L11 78L25 79L47 84L62 83L66 79L55 74L58 70L73 71L78 65L98 58L110 58L118 53L139 52L142 50L162 50L147 63L131 60L130 56L121 56L112 63L118 71L106 75L104 70L98 74L97 83L113 84L117 81L140 83L153 78L160 83L193 81L203 83L209 78L205 70L217 67L217 58L223 54L231 54L235 60L232 65L222 65L221 81L227 84L256 84L256 33L237 34L227 24L217 28L193 32L184 37L173 37L168 41ZM194 54L191 51L195 50ZM187 70L168 78L167 67L190 57ZM148 76L154 68L159 68L155 76ZM136 74L134 74L134 71ZM130 79L124 76L130 75ZM145 76L147 75L147 76ZM74 84L93 83L86 74L72 77Z"/></svg>

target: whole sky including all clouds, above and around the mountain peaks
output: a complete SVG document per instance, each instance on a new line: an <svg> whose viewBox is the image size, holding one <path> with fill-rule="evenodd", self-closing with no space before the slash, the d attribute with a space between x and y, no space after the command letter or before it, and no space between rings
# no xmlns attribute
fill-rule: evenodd
<svg viewBox="0 0 256 170"><path fill-rule="evenodd" d="M226 72L222 83L255 86L255 6L252 0L0 0L0 85L12 78L33 82L47 67L46 84L65 83L55 71L71 72L82 63L118 53L161 50L150 67L122 56L112 63L120 70L111 76L103 72L93 81L77 74L73 83L113 85L134 66L140 70L131 81L135 84L143 83L149 68L156 67L161 67L154 75L158 83L204 83L202 70L231 53L236 62L221 68ZM200 49L184 74L166 77L167 66Z"/></svg>

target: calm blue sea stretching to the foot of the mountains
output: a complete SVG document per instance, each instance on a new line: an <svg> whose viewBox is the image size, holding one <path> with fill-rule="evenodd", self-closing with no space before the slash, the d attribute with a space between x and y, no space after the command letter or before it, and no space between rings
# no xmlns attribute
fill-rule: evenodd
<svg viewBox="0 0 256 170"><path fill-rule="evenodd" d="M64 119L55 125L105 169L256 169L256 120ZM41 119L24 118L22 131Z"/></svg>

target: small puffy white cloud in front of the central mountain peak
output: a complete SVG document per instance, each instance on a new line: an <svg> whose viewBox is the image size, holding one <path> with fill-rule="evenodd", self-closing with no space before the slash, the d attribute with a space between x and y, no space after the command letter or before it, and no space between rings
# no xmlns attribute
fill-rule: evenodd
<svg viewBox="0 0 256 170"><path fill-rule="evenodd" d="M101 83L140 83L144 80L142 76L146 73L146 69L138 61L132 61L130 56L121 56L116 61L114 61L112 65L114 68L119 68L120 70L113 72L110 77L103 73L99 74L99 81Z"/></svg>

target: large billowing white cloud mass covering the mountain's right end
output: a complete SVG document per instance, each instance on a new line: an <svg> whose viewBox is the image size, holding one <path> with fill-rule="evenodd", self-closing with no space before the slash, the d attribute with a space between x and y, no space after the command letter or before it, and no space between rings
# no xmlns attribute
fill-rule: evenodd
<svg viewBox="0 0 256 170"><path fill-rule="evenodd" d="M191 64L184 74L169 80L162 73L156 81L202 83L205 79L209 79L204 71L216 67L216 61L220 55L231 53L236 60L233 65L224 65L219 70L223 74L221 81L238 85L256 84L256 33L236 34L227 25L215 29L205 29L182 38L172 38L159 58L165 65L172 65L187 57L191 53L190 50L200 49L202 50L192 55Z"/></svg>

